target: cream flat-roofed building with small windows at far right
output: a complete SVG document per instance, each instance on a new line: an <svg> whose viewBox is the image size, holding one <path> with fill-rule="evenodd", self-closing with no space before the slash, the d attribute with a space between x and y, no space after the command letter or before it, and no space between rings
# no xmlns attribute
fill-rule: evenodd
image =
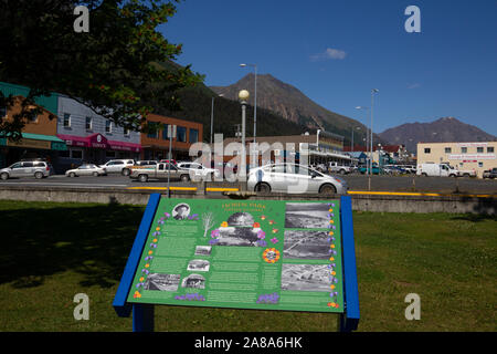
<svg viewBox="0 0 497 354"><path fill-rule="evenodd" d="M497 167L497 142L419 143L417 164L448 163L458 170L475 170L478 178L484 170Z"/></svg>

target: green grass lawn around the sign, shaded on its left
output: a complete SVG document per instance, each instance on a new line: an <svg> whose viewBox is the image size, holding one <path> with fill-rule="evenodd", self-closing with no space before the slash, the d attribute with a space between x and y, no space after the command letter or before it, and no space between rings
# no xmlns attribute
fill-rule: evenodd
<svg viewBox="0 0 497 354"><path fill-rule="evenodd" d="M0 200L0 331L130 331L112 308L145 207ZM360 331L496 331L497 219L355 212ZM89 296L89 321L73 298ZM406 321L404 298L421 298ZM271 319L271 321L268 321ZM321 313L157 306L157 331L336 331Z"/></svg>

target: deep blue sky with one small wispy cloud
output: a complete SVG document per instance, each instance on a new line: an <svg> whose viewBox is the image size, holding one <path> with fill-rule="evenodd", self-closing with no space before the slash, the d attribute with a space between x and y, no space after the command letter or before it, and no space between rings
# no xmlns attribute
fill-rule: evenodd
<svg viewBox="0 0 497 354"><path fill-rule="evenodd" d="M409 6L421 10L421 33L404 29ZM368 125L355 107L379 88L377 133L454 116L497 135L496 15L496 0L186 0L160 31L209 86L254 63Z"/></svg>

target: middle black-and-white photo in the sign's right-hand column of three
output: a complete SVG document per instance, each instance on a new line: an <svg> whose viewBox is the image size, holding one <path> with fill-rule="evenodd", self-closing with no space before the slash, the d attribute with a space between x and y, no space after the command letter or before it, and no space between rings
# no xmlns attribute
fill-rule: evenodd
<svg viewBox="0 0 497 354"><path fill-rule="evenodd" d="M328 259L328 231L285 230L283 258Z"/></svg>

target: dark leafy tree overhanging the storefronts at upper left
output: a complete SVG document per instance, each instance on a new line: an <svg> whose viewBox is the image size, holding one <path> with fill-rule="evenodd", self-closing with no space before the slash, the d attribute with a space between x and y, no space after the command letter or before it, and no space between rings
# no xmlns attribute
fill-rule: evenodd
<svg viewBox="0 0 497 354"><path fill-rule="evenodd" d="M19 138L34 98L51 92L134 131L157 106L178 110L177 91L203 77L175 65L181 44L157 31L177 2L0 0L0 81L31 88L21 112L0 122L0 136ZM88 32L74 30L76 6L88 9ZM0 106L13 101L0 93Z"/></svg>

